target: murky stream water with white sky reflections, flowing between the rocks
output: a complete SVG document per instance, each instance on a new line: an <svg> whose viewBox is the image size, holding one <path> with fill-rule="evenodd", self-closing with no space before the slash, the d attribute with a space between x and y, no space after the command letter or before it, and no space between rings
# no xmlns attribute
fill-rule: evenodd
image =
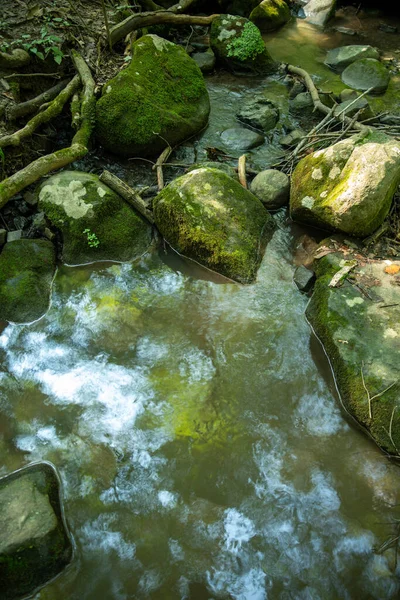
<svg viewBox="0 0 400 600"><path fill-rule="evenodd" d="M271 54L299 35L268 36ZM200 156L265 87L208 81ZM284 111L282 82L267 88ZM255 166L279 156L270 142ZM154 247L60 267L45 317L0 327L0 475L53 462L76 544L36 600L399 597L395 551L379 551L398 535L399 470L340 408L293 283L303 232L274 219L253 285Z"/></svg>

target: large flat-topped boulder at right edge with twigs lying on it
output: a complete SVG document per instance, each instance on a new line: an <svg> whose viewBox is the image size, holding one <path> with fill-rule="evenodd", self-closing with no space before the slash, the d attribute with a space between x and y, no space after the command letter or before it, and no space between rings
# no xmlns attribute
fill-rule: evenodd
<svg viewBox="0 0 400 600"><path fill-rule="evenodd" d="M390 272L400 271L400 265L360 260L349 250L318 261L307 318L328 355L345 408L381 448L398 454L400 287ZM354 266L350 283L339 272Z"/></svg>

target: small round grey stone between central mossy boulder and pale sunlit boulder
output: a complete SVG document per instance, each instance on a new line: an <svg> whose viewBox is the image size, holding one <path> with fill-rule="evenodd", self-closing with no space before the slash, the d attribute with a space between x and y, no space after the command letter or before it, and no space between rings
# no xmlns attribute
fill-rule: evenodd
<svg viewBox="0 0 400 600"><path fill-rule="evenodd" d="M267 210L282 208L289 202L289 177L275 169L261 171L251 182L250 191L261 200Z"/></svg>

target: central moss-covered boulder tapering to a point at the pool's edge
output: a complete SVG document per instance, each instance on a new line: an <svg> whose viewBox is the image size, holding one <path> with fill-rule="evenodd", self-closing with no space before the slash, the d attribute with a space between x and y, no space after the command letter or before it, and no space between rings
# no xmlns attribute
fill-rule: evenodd
<svg viewBox="0 0 400 600"><path fill-rule="evenodd" d="M272 217L240 183L217 169L196 169L155 198L154 218L171 246L241 283L252 282Z"/></svg>

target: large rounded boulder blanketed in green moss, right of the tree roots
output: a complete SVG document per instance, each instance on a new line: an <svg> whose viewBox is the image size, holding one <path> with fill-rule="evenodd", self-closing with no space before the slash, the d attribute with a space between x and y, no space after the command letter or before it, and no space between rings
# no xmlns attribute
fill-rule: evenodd
<svg viewBox="0 0 400 600"><path fill-rule="evenodd" d="M96 105L96 136L121 156L158 155L203 129L210 101L203 75L185 50L156 35L132 48L129 67Z"/></svg>

